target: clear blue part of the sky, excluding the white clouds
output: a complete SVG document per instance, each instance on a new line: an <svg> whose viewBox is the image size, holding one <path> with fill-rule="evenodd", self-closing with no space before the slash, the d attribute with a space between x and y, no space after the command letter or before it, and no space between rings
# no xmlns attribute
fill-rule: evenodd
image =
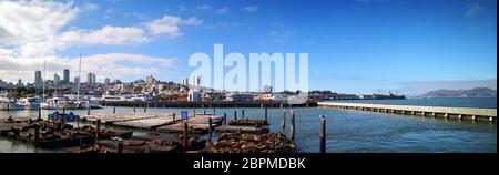
<svg viewBox="0 0 499 175"><path fill-rule="evenodd" d="M165 16L181 19L183 22L175 24L179 30L174 33L145 33L144 40L124 44L92 40L53 51L54 58L70 60L80 53L85 56L120 53L171 59L169 66L154 65L151 71L161 80L179 81L189 76L193 71L187 68L189 56L195 52L213 55L213 44L222 43L225 53L308 53L309 87L313 90L342 93L399 90L415 94L435 86L468 87L477 81L488 81L490 87L497 89L496 0L99 0L53 3L78 9L54 35L67 31L91 33L106 25L142 29ZM8 25L3 28L9 29ZM22 44L2 42L0 34L0 49L6 53L19 48ZM12 54L12 59L24 56ZM112 64L139 66L128 61ZM126 73L126 69L120 74L102 73L101 79L135 80L149 74L149 66L140 65L142 69L136 69L135 73ZM27 74L28 80L32 79L32 73ZM100 76L100 72L96 74ZM459 83L437 85L452 81ZM417 90L410 86L417 82L431 83L422 89L420 83Z"/></svg>

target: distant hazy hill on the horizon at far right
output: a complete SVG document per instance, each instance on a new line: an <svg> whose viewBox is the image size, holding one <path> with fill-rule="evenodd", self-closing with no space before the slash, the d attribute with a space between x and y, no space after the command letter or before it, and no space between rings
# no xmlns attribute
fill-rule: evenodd
<svg viewBox="0 0 499 175"><path fill-rule="evenodd" d="M424 97L497 97L497 90L476 87L472 90L437 90L428 92Z"/></svg>

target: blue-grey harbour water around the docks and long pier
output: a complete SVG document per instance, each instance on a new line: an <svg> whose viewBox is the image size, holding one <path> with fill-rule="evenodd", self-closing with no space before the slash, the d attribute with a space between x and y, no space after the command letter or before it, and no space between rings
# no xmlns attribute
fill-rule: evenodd
<svg viewBox="0 0 499 175"><path fill-rule="evenodd" d="M425 101L427 101L425 103ZM446 102L447 101L447 102ZM440 106L472 106L496 109L493 99L429 99L398 101L357 101L387 104L418 104ZM458 103L460 102L460 103ZM149 109L147 112L180 112L185 109ZM237 110L217 109L218 115L227 113L233 117ZM244 109L246 116L263 119L263 109ZM116 107L118 113L130 113L133 109ZM140 110L138 110L139 112ZM187 110L193 112L193 110ZM197 112L203 110L197 109ZM345 111L336 109L295 109L296 142L299 152L318 152L318 116L327 120L327 152L332 153L497 153L497 124L488 122L460 122L456 120L430 119L395 114ZM48 112L43 111L42 116ZM207 110L210 112L210 110ZM279 132L281 110L269 110L271 132ZM86 111L77 112L86 114ZM92 111L112 113L112 107ZM0 112L0 117L38 116L37 111ZM289 120L289 117L287 117ZM287 121L288 122L288 121ZM286 123L288 132L289 123ZM33 148L11 140L0 138L0 152L50 152Z"/></svg>

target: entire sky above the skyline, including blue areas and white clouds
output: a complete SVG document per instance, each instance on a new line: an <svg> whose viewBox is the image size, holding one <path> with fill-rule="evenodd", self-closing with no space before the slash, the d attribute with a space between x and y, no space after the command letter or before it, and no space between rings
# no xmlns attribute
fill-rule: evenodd
<svg viewBox="0 0 499 175"><path fill-rule="evenodd" d="M72 79L80 53L98 81L179 81L215 43L309 53L315 90L497 89L496 0L0 0L3 81L33 82L44 61Z"/></svg>

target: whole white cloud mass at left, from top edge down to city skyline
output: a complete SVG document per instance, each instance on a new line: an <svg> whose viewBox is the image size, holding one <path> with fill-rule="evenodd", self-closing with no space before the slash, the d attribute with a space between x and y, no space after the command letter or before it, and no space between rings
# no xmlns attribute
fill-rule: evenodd
<svg viewBox="0 0 499 175"><path fill-rule="evenodd" d="M78 58L57 56L59 51L78 45L141 44L159 35L179 37L184 27L202 24L194 17L164 16L130 27L71 27L79 13L98 8L91 3L77 7L72 2L0 0L0 79L33 82L34 71L43 69L43 60L48 75L61 74L69 68L74 76ZM98 79L156 74L172 66L174 60L131 53L94 54L82 59L82 76L85 72L95 72Z"/></svg>

